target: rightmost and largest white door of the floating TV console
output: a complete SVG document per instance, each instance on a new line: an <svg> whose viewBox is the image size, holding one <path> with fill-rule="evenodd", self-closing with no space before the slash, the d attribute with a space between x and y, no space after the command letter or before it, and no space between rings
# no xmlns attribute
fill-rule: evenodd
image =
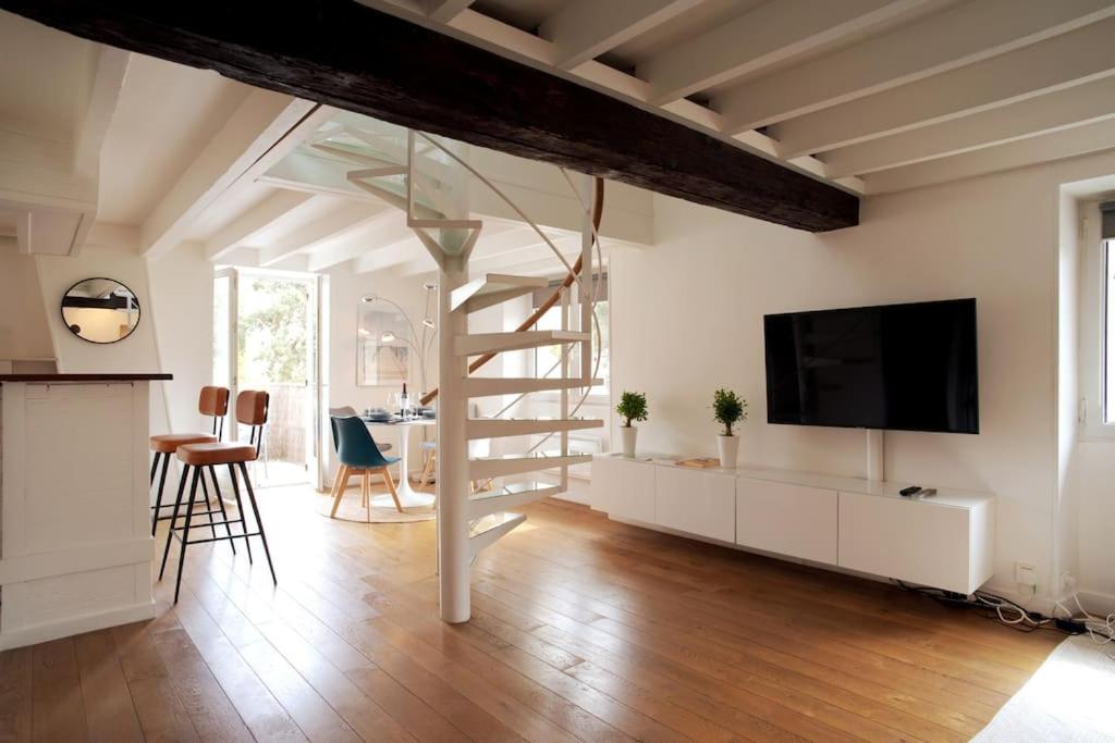
<svg viewBox="0 0 1115 743"><path fill-rule="evenodd" d="M968 594L969 512L923 500L840 493L840 566Z"/></svg>

